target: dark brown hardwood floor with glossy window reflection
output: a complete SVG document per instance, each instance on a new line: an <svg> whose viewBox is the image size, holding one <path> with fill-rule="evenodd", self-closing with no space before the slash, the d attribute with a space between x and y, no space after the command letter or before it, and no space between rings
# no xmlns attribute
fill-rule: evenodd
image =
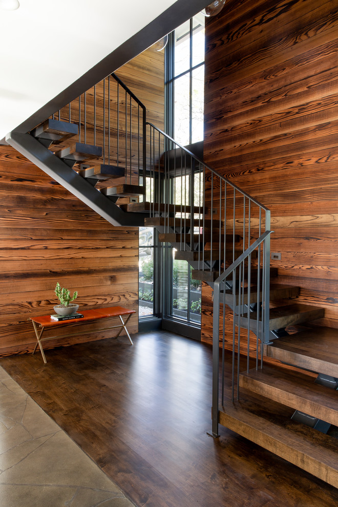
<svg viewBox="0 0 338 507"><path fill-rule="evenodd" d="M137 505L333 507L338 490L210 429L211 349L165 331L0 365Z"/></svg>

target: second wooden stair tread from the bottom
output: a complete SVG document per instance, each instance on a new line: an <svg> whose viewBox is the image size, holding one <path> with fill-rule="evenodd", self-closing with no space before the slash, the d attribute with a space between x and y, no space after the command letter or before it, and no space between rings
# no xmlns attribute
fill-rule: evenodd
<svg viewBox="0 0 338 507"><path fill-rule="evenodd" d="M294 410L338 426L338 393L313 378L280 367L264 366L240 374L240 386Z"/></svg>

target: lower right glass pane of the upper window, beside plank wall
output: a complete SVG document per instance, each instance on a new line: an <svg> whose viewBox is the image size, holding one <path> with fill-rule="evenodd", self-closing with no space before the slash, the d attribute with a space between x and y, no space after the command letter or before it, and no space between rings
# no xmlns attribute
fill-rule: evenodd
<svg viewBox="0 0 338 507"><path fill-rule="evenodd" d="M203 140L204 65L193 71L192 142Z"/></svg>

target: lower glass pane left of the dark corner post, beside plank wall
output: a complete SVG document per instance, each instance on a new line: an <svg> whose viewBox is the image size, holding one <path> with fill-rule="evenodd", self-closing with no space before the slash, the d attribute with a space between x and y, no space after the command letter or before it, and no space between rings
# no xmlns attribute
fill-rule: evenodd
<svg viewBox="0 0 338 507"><path fill-rule="evenodd" d="M151 228L151 227L144 227ZM154 314L154 248L139 248L138 314Z"/></svg>

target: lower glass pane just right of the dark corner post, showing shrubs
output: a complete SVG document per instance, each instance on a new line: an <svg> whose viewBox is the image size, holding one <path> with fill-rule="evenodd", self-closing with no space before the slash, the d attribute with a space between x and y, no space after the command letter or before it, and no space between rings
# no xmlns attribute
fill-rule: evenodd
<svg viewBox="0 0 338 507"><path fill-rule="evenodd" d="M186 261L173 260L173 315L187 319L189 270Z"/></svg>

